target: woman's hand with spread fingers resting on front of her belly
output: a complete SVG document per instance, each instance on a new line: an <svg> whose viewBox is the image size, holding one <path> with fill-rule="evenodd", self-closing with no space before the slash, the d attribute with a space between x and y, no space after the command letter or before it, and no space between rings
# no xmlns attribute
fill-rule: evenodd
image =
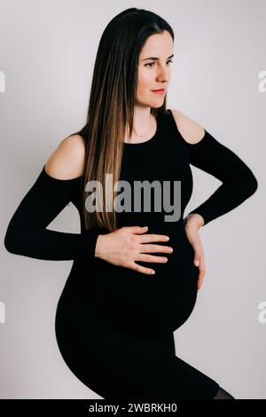
<svg viewBox="0 0 266 417"><path fill-rule="evenodd" d="M135 264L135 261L165 263L164 256L144 255L143 252L163 252L170 254L173 248L164 245L153 245L150 242L167 241L168 236L163 234L143 234L148 227L129 226L121 227L107 234L99 234L96 242L95 257L101 258L110 264L129 268L133 271L153 274L150 268Z"/></svg>

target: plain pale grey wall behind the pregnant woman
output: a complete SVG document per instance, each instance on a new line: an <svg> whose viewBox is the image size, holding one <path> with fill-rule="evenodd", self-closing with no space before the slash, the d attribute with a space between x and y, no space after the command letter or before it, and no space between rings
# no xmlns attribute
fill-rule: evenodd
<svg viewBox="0 0 266 417"><path fill-rule="evenodd" d="M266 398L265 0L0 0L1 398L101 398L66 366L54 331L72 261L14 256L4 232L59 141L82 128L98 43L117 13L139 7L175 31L168 108L200 122L239 155L257 192L200 229L206 276L191 317L175 332L176 355L238 398ZM265 89L264 89L265 90ZM185 214L221 183L192 168ZM66 207L49 228L80 232ZM265 320L264 320L265 321Z"/></svg>

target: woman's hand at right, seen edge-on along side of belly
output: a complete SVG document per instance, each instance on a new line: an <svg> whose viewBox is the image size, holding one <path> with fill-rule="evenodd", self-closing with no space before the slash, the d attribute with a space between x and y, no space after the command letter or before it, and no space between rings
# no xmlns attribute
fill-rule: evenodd
<svg viewBox="0 0 266 417"><path fill-rule="evenodd" d="M199 266L198 291L205 277L205 260L202 242L200 239L200 227L204 224L204 219L198 213L193 213L186 217L184 231L187 239L190 241L194 249L194 264ZM198 264L197 264L198 261Z"/></svg>

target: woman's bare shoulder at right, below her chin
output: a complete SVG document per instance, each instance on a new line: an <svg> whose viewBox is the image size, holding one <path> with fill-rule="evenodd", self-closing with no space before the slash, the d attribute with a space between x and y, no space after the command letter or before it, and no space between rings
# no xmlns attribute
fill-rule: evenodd
<svg viewBox="0 0 266 417"><path fill-rule="evenodd" d="M205 136L205 130L200 123L176 109L171 109L176 121L176 127L186 142L196 144Z"/></svg>

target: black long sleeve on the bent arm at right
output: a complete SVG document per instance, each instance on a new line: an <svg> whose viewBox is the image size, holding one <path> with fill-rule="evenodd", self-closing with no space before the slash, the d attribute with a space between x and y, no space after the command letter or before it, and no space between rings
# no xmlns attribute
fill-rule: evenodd
<svg viewBox="0 0 266 417"><path fill-rule="evenodd" d="M200 142L196 144L186 142L186 146L189 150L190 163L223 183L207 201L189 213L189 215L200 214L204 219L203 225L238 207L256 191L258 182L251 169L236 153L223 146L207 130Z"/></svg>

